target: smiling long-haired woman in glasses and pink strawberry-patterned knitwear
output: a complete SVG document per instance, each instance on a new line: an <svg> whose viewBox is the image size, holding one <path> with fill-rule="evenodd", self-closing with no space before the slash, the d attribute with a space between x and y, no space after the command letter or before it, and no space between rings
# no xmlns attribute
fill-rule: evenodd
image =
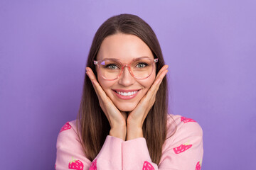
<svg viewBox="0 0 256 170"><path fill-rule="evenodd" d="M145 21L105 21L88 55L78 119L58 135L55 169L201 169L200 125L167 113L167 68Z"/></svg>

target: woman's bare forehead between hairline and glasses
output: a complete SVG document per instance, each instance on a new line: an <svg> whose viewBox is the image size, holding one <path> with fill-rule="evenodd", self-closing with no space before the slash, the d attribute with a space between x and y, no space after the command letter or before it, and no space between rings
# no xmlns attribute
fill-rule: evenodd
<svg viewBox="0 0 256 170"><path fill-rule="evenodd" d="M102 41L96 60L114 58L121 62L131 62L139 57L154 58L154 55L136 35L117 33Z"/></svg>

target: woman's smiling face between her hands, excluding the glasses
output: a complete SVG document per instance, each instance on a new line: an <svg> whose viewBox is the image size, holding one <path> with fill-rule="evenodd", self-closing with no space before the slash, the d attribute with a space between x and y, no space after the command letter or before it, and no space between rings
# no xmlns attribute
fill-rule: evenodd
<svg viewBox="0 0 256 170"><path fill-rule="evenodd" d="M100 50L97 53L97 60L114 58L129 64L139 57L154 59L149 47L137 36L117 33L110 35L102 41ZM156 77L156 67L152 74L146 79L135 79L129 73L127 67L121 76L115 80L104 79L97 68L97 79L108 97L120 111L133 111L142 97L149 90ZM131 92L128 94L128 92ZM132 94L132 95L131 95Z"/></svg>

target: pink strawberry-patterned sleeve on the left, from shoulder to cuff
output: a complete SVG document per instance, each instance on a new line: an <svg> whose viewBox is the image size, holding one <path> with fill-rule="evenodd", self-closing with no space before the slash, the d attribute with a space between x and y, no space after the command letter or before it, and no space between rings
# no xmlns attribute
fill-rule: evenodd
<svg viewBox="0 0 256 170"><path fill-rule="evenodd" d="M74 121L61 128L57 140L55 169L122 169L122 140L107 136L100 153L91 162L83 152Z"/></svg>

